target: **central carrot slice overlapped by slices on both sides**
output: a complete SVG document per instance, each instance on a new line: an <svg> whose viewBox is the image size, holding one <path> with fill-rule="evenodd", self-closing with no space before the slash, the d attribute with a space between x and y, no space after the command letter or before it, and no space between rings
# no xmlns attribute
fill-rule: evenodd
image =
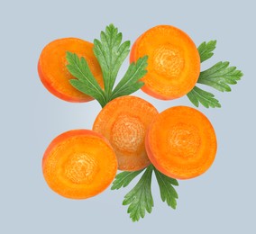
<svg viewBox="0 0 256 234"><path fill-rule="evenodd" d="M93 130L101 133L114 148L118 169L140 170L151 164L145 149L145 135L158 114L151 103L136 96L115 98L96 117Z"/></svg>

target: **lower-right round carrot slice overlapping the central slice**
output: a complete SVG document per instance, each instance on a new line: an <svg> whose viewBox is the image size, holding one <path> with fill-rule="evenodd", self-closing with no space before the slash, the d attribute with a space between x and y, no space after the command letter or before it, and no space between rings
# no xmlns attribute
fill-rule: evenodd
<svg viewBox="0 0 256 234"><path fill-rule="evenodd" d="M146 149L160 172L177 179L201 175L213 164L215 130L202 112L176 106L160 112L151 122Z"/></svg>

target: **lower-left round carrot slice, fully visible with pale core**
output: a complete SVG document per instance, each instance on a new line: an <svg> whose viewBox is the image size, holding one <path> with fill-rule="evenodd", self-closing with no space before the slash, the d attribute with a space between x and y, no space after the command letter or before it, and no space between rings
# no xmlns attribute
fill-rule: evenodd
<svg viewBox="0 0 256 234"><path fill-rule="evenodd" d="M92 130L69 130L53 139L42 158L50 188L67 198L85 199L101 193L114 180L114 149Z"/></svg>

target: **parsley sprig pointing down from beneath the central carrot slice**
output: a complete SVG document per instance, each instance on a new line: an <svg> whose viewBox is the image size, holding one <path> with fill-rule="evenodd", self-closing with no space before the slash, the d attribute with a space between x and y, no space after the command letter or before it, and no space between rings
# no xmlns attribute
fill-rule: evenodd
<svg viewBox="0 0 256 234"><path fill-rule="evenodd" d="M124 196L123 205L129 205L127 212L130 213L130 218L133 221L138 221L144 218L146 211L149 213L152 211L154 202L151 194L151 175L153 171L160 187L161 200L167 202L171 208L176 209L178 193L173 185L178 186L178 181L163 175L152 165L140 171L119 173L116 175L111 189L117 190L126 187L142 171L144 173L139 182Z"/></svg>

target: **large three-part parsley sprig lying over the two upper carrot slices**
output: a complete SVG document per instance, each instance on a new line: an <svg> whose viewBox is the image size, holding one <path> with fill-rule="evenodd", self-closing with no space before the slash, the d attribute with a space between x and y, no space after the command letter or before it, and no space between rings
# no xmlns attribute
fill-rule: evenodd
<svg viewBox="0 0 256 234"><path fill-rule="evenodd" d="M97 84L86 59L78 58L78 55L67 52L69 62L67 67L69 72L77 78L71 79L70 84L80 92L94 97L102 107L115 97L133 94L144 85L139 79L147 73L147 56L132 63L114 88L118 71L130 52L130 41L126 40L122 43L122 39L122 33L110 24L105 31L101 31L100 40L94 40L93 50L103 73L104 89Z"/></svg>

